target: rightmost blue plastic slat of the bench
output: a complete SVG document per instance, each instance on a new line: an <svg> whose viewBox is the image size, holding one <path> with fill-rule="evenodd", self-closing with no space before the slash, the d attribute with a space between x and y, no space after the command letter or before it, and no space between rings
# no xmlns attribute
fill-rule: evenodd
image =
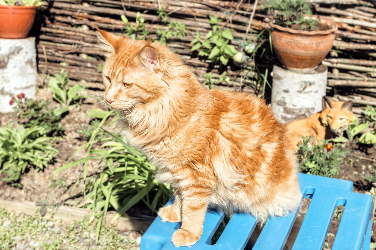
<svg viewBox="0 0 376 250"><path fill-rule="evenodd" d="M371 217L372 196L353 192L339 196L347 201L332 249L346 246L346 249L360 250Z"/></svg>

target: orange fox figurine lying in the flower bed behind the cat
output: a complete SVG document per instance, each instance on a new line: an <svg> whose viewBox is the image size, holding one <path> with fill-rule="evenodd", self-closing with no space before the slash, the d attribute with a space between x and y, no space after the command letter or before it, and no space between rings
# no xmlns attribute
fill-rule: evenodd
<svg viewBox="0 0 376 250"><path fill-rule="evenodd" d="M323 140L342 135L354 119L351 109L351 102L336 102L323 97L323 111L287 124L294 149L302 142L302 136L314 136Z"/></svg>

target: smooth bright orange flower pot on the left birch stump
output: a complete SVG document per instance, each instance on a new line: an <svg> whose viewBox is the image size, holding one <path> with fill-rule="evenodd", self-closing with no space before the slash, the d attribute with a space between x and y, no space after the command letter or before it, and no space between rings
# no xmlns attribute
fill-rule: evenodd
<svg viewBox="0 0 376 250"><path fill-rule="evenodd" d="M33 26L35 6L0 6L0 37L25 38Z"/></svg>

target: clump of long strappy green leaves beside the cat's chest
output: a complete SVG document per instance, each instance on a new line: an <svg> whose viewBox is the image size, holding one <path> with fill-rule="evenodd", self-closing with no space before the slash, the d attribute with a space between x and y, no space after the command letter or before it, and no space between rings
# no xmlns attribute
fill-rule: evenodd
<svg viewBox="0 0 376 250"><path fill-rule="evenodd" d="M110 133L104 128L108 117L113 111L102 118L96 129L91 134L89 142L80 147L86 149L84 158L68 162L53 172L53 176L64 169L83 164L83 190L80 192L82 203L92 209L92 218L97 211L103 211L102 216L113 208L118 211L114 221L125 214L129 208L143 202L152 211L156 212L159 205L167 202L170 197L169 187L159 183L153 178L155 166L147 161L146 157L133 147L130 147L124 138ZM97 134L103 130L109 136L96 139ZM100 145L94 148L94 144ZM73 156L72 156L73 157ZM86 183L86 169L89 161L99 159L99 167L103 169ZM78 181L78 180L77 180Z"/></svg>

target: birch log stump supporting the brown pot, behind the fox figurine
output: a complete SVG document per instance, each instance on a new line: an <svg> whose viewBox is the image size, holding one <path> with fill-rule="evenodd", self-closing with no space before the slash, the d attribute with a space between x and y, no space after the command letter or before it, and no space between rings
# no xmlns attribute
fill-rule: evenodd
<svg viewBox="0 0 376 250"><path fill-rule="evenodd" d="M307 73L274 65L272 76L271 109L280 123L287 124L321 111L327 83L324 64Z"/></svg>

